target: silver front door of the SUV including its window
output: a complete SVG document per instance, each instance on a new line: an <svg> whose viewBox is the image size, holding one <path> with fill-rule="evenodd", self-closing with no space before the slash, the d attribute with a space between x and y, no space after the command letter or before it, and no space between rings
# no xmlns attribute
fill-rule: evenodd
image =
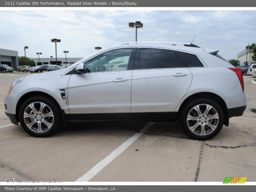
<svg viewBox="0 0 256 192"><path fill-rule="evenodd" d="M122 48L104 52L84 62L84 74L70 76L68 105L72 118L131 118L135 51L136 48Z"/></svg>

